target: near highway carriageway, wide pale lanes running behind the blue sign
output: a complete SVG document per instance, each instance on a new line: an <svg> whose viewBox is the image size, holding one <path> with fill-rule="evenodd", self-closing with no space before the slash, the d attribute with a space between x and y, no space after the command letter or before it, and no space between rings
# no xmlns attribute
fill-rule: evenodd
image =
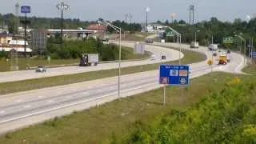
<svg viewBox="0 0 256 144"><path fill-rule="evenodd" d="M154 45L182 46L182 49L189 49L189 46L186 45L170 43L155 42ZM159 49L160 47L157 46L156 48ZM167 51L170 49L161 48L161 50L163 49L166 50L166 53L169 53ZM206 47L200 47L195 51L206 54L208 58L211 58L211 52ZM241 73L245 63L242 55L231 53L230 58L231 61L226 66L218 66L215 62L213 70ZM190 64L190 67L192 71L190 78L211 72L211 66L207 66L206 61ZM161 87L158 84L158 70L122 75L121 82L122 97ZM118 98L117 84L118 78L112 77L3 95L0 97L0 133L6 133L56 116L70 114L74 110L85 110L91 106L99 106L102 103L113 101Z"/></svg>

